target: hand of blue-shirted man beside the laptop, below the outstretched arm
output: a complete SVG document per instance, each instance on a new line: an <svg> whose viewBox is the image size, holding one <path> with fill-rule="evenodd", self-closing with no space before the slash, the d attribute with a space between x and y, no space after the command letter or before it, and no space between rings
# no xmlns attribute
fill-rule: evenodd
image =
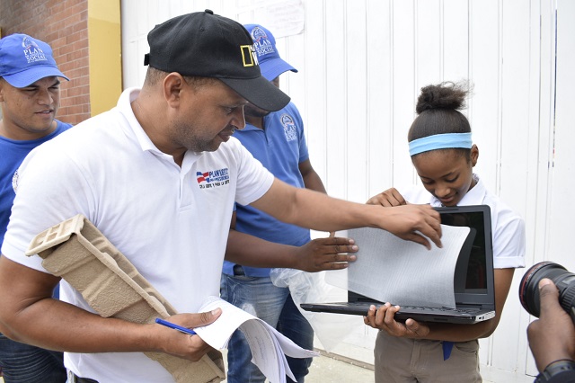
<svg viewBox="0 0 575 383"><path fill-rule="evenodd" d="M323 270L340 270L348 267L349 262L356 260L358 246L353 239L330 236L317 238L297 249L296 269L305 272L321 272Z"/></svg>

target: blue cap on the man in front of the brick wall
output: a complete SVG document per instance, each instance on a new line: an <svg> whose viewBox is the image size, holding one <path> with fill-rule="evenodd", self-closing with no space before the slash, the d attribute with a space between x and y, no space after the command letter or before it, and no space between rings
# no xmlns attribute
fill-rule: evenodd
<svg viewBox="0 0 575 383"><path fill-rule="evenodd" d="M23 88L44 77L64 77L44 41L14 33L0 39L0 77L15 88Z"/></svg>

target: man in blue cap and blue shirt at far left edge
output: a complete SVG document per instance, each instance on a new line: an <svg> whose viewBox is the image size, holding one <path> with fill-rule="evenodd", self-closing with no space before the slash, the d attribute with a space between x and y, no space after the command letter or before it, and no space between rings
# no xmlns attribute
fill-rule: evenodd
<svg viewBox="0 0 575 383"><path fill-rule="evenodd" d="M0 40L0 245L14 199L13 180L34 147L72 125L55 120L60 104L59 71L52 49L25 34ZM4 382L65 382L62 352L14 342L0 334L0 367Z"/></svg>

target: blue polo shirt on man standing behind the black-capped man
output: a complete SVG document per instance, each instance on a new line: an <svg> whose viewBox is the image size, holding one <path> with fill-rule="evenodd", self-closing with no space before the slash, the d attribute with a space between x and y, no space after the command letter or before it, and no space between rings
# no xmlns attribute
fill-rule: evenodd
<svg viewBox="0 0 575 383"><path fill-rule="evenodd" d="M264 117L263 126L265 129L246 124L243 130L235 131L234 137L276 178L304 188L304 179L298 165L307 160L309 154L305 144L304 123L296 105L290 102L284 109L272 111ZM284 245L305 245L311 239L308 229L286 224L261 210L239 203L236 203L235 229ZM223 272L233 275L233 267L234 263L225 261ZM268 268L243 266L243 272L250 277L270 275Z"/></svg>

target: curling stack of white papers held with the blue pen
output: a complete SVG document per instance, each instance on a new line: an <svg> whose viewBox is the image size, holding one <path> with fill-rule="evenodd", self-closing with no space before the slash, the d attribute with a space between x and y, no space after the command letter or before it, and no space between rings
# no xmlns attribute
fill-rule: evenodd
<svg viewBox="0 0 575 383"><path fill-rule="evenodd" d="M250 344L252 363L270 380L271 383L286 382L286 375L296 380L289 370L286 355L292 358L309 358L319 353L305 350L293 343L275 328L241 308L226 302L222 298L208 297L199 312L207 312L220 307L222 315L211 325L196 327L194 331L204 342L217 350L226 349L230 337L240 329Z"/></svg>

